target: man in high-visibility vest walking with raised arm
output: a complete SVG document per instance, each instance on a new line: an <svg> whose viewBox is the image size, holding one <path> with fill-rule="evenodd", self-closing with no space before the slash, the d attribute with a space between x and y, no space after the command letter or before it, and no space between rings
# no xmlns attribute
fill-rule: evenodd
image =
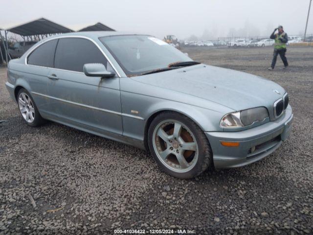
<svg viewBox="0 0 313 235"><path fill-rule="evenodd" d="M275 33L277 29L278 33ZM274 32L270 35L270 39L274 39L275 43L272 64L268 70L273 70L275 68L278 54L284 63L284 69L286 69L288 66L288 61L285 54L287 51L286 43L288 42L288 36L287 33L284 32L283 26L279 25L278 28L275 28Z"/></svg>

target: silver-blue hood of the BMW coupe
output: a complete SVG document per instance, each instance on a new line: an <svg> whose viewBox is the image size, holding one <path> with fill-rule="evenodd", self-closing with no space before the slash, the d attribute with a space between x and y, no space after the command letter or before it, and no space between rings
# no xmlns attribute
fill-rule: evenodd
<svg viewBox="0 0 313 235"><path fill-rule="evenodd" d="M204 64L132 79L206 99L236 111L272 107L285 93L281 86L260 76Z"/></svg>

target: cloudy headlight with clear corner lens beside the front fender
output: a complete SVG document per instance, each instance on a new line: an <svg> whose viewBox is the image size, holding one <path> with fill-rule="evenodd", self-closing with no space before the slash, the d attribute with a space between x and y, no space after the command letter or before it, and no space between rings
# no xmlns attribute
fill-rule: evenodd
<svg viewBox="0 0 313 235"><path fill-rule="evenodd" d="M222 127L242 127L249 126L256 121L263 121L268 117L268 110L265 107L246 109L230 114L226 114L220 125Z"/></svg>

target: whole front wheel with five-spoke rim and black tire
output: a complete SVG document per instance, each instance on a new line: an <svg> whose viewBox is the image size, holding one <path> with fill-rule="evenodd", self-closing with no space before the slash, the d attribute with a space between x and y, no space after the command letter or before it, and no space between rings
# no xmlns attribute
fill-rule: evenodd
<svg viewBox="0 0 313 235"><path fill-rule="evenodd" d="M159 167L171 176L190 179L213 168L212 150L203 131L179 113L164 112L153 119L148 145Z"/></svg>

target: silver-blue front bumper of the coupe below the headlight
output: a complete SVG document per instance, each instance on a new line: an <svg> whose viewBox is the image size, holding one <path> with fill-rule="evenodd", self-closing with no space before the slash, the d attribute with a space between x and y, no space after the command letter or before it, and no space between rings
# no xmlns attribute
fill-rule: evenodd
<svg viewBox="0 0 313 235"><path fill-rule="evenodd" d="M292 110L275 121L239 132L205 132L215 168L240 167L265 158L289 138L292 128ZM239 142L238 147L227 147L221 141Z"/></svg>

